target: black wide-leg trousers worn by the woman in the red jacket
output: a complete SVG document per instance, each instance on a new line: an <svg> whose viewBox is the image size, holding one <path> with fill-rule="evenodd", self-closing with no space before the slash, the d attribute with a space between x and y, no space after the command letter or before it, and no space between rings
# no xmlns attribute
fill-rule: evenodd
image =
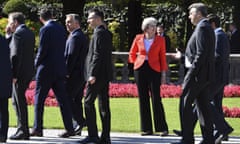
<svg viewBox="0 0 240 144"><path fill-rule="evenodd" d="M160 97L161 73L151 69L148 62L145 61L143 66L134 71L134 75L139 95L141 131L153 131L149 93L152 98L155 131L168 131Z"/></svg>

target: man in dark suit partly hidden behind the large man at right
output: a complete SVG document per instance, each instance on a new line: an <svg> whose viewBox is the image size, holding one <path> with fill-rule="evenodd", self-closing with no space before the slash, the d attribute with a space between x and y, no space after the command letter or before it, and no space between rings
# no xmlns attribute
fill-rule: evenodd
<svg viewBox="0 0 240 144"><path fill-rule="evenodd" d="M221 143L226 140L228 134L233 131L233 128L224 119L222 110L222 99L224 86L228 84L229 77L229 40L225 32L220 27L220 18L217 15L210 14L207 16L212 28L215 32L215 81L212 84L210 97L211 109L213 110L213 123L215 137L215 144ZM197 123L197 111L194 108L194 125ZM174 130L177 135L182 135L181 132Z"/></svg>

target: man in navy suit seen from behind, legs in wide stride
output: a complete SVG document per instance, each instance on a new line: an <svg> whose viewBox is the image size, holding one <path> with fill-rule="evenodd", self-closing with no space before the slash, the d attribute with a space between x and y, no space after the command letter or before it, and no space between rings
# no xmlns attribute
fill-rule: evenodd
<svg viewBox="0 0 240 144"><path fill-rule="evenodd" d="M34 103L34 126L31 136L43 135L44 102L50 88L53 89L60 106L63 124L66 132L60 137L74 135L72 112L64 84L66 78L66 64L64 50L66 33L64 28L52 20L49 9L42 9L40 21L44 26L40 29L40 44L35 58L36 90Z"/></svg>

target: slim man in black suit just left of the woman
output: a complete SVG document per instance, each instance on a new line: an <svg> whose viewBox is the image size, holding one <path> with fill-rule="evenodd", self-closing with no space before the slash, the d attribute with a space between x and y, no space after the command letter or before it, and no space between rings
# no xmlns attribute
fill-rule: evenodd
<svg viewBox="0 0 240 144"><path fill-rule="evenodd" d="M90 10L88 23L94 29L86 59L87 91L84 101L88 137L80 143L110 144L110 108L109 81L112 79L112 35L104 27L103 12ZM102 120L102 134L99 140L96 124L95 100L98 97L99 111Z"/></svg>

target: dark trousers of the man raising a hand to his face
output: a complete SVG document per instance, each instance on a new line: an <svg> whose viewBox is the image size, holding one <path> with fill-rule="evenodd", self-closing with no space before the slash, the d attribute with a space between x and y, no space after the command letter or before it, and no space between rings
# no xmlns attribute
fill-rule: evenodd
<svg viewBox="0 0 240 144"><path fill-rule="evenodd" d="M28 127L28 109L25 92L28 88L30 80L18 79L16 83L13 83L13 107L17 115L17 131L22 131L25 134L29 134Z"/></svg>

